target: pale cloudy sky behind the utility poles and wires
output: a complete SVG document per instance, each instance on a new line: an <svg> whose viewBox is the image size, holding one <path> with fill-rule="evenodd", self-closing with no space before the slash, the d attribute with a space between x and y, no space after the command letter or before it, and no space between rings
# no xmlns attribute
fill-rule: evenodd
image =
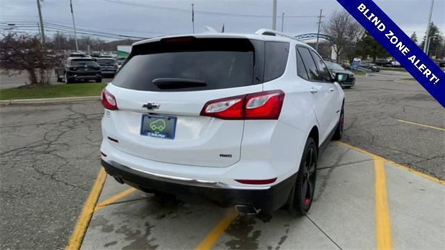
<svg viewBox="0 0 445 250"><path fill-rule="evenodd" d="M407 35L416 31L419 40L426 31L431 0L375 0ZM273 0L72 0L76 28L116 35L152 38L163 35L192 33L191 3L195 9L195 32L211 26L225 32L254 33L272 26ZM45 30L51 35L56 28L65 32L72 27L70 0L43 0ZM335 10L342 7L335 0L277 0L277 30L281 30L284 12L284 32L293 35L316 33L318 15L327 22ZM435 0L432 22L445 33L445 0ZM0 0L0 27L6 22L38 32L38 10L35 0ZM58 25L58 26L54 26ZM10 26L9 26L10 27ZM52 28L51 28L52 27ZM80 31L82 32L82 31Z"/></svg>

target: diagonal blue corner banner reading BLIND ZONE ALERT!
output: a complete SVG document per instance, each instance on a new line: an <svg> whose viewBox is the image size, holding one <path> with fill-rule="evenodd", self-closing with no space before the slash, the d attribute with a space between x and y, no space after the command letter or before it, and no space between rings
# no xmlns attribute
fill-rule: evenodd
<svg viewBox="0 0 445 250"><path fill-rule="evenodd" d="M337 1L445 108L445 72L385 12L372 0Z"/></svg>

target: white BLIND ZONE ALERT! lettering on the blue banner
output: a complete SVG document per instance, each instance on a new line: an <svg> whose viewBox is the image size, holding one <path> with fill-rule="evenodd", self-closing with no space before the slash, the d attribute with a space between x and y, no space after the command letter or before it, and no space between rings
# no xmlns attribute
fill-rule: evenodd
<svg viewBox="0 0 445 250"><path fill-rule="evenodd" d="M371 21L375 27L377 27L377 29L379 31L385 31L386 26L385 24L383 24L380 19L378 19L378 17L376 17L373 13L368 14L369 9L366 8L366 6L361 3L360 6L358 6L357 8L360 12L363 13L363 15L369 19L369 21ZM408 53L410 52L410 49L408 49L402 42L398 42L398 38L396 37L396 35L394 35L394 33L392 31L387 31L387 33L385 33L385 36L388 38L389 42L391 42L391 44L395 44L396 48L401 51L401 53L403 53L404 56L407 56ZM408 60L411 61L411 63L417 68L419 69L420 72L422 72L423 76L425 76L426 78L428 78L430 80L430 82L436 84L439 82L439 78L437 78L437 76L435 76L435 74L432 74L431 70L428 69L426 67L426 65L424 65L423 63L420 63L420 60L417 59L416 60L416 56L412 55L410 57L408 57Z"/></svg>

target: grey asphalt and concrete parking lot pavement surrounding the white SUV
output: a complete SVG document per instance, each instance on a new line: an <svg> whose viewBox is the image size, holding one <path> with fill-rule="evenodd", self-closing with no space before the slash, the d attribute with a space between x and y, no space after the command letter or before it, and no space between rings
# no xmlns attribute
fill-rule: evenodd
<svg viewBox="0 0 445 250"><path fill-rule="evenodd" d="M307 217L159 201L106 178L98 205L108 206L96 207L83 249L369 249L388 226L394 248L443 249L445 111L418 83L394 81L401 77L357 76L345 90L346 144L325 152ZM102 112L98 102L0 108L1 249L65 247L99 173ZM377 164L383 216L372 153L387 159ZM376 224L381 216L390 224Z"/></svg>

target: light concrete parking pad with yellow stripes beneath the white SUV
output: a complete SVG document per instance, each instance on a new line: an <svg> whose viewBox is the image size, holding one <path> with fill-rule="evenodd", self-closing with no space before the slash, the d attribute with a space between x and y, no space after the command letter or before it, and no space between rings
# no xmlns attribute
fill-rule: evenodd
<svg viewBox="0 0 445 250"><path fill-rule="evenodd" d="M442 180L343 142L318 165L314 206L306 217L284 210L238 215L233 208L162 201L107 178L83 242L71 249L390 249L445 244ZM97 190L97 189L95 189ZM403 207L427 196L424 206ZM88 205L90 203L86 203ZM413 217L421 224L412 231ZM78 223L79 224L79 223ZM415 237L413 237L415 234ZM347 235L347 236L346 236ZM409 236L406 236L409 235ZM432 240L431 240L432 239ZM442 240L441 240L442 239Z"/></svg>

